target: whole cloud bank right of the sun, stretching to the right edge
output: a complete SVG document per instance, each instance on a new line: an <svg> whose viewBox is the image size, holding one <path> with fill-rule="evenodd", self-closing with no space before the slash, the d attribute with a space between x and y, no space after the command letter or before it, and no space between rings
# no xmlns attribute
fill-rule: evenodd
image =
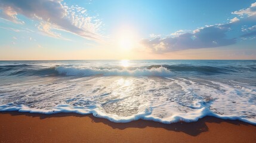
<svg viewBox="0 0 256 143"><path fill-rule="evenodd" d="M227 46L235 44L238 38L255 39L256 2L251 4L249 8L234 11L232 14L238 15L239 18L234 17L226 24L204 26L193 30L193 32L178 30L162 38L160 36L150 37L153 39L143 39L141 43L152 52L162 53ZM246 28L248 26L249 28ZM244 33L237 33L236 29L241 29L241 27ZM233 38L228 38L229 33L232 33Z"/></svg>

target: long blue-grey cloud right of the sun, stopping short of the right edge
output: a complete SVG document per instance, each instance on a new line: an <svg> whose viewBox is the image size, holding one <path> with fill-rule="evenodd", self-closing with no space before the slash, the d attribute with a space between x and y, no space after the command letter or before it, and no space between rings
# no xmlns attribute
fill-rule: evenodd
<svg viewBox="0 0 256 143"><path fill-rule="evenodd" d="M180 33L167 38L144 39L141 43L153 52L171 52L184 49L213 48L232 45L235 38L226 38L230 24L216 24L205 26L193 32ZM177 32L175 32L177 33Z"/></svg>

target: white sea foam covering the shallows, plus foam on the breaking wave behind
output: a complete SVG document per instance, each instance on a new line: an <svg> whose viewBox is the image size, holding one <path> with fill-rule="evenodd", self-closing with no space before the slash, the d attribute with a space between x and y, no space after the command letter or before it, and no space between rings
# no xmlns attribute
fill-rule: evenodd
<svg viewBox="0 0 256 143"><path fill-rule="evenodd" d="M56 70L69 75L124 75L119 70ZM152 71L156 69L145 72L152 75ZM204 116L215 116L256 125L254 86L196 78L131 77L127 75L141 71L127 72L125 76L44 77L2 83L0 111L93 114L121 123L138 119L195 122Z"/></svg>

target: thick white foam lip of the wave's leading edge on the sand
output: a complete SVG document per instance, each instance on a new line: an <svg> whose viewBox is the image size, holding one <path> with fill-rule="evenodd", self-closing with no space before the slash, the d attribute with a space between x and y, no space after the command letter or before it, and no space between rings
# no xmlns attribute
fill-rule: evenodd
<svg viewBox="0 0 256 143"><path fill-rule="evenodd" d="M101 111L99 105L92 105L91 109L85 109L81 107L70 107L70 105L58 105L54 109L51 110L36 110L33 108L29 108L26 105L17 105L16 107L8 107L8 105L0 105L0 111L18 111L21 113L39 113L39 114L57 114L57 113L77 113L77 114L92 114L94 117L99 117L103 119L107 119L110 122L115 123L128 123L134 120L151 120L153 122L159 122L164 124L172 124L177 122L197 122L199 119L203 117L217 117L223 120L240 120L245 123L250 123L252 125L256 125L254 119L245 119L241 116L225 116L220 114L212 113L208 108L200 108L198 111L194 111L192 113L182 114L178 113L174 116L168 117L166 119L161 119L158 116L152 116L152 111L147 108L144 108L144 111L141 111L137 114L128 117L119 117L115 114L107 114L104 111Z"/></svg>

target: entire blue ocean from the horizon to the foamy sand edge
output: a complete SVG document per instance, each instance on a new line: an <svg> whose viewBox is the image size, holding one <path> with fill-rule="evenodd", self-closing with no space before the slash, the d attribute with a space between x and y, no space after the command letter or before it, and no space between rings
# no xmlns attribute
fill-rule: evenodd
<svg viewBox="0 0 256 143"><path fill-rule="evenodd" d="M256 125L256 60L0 61L0 111Z"/></svg>

